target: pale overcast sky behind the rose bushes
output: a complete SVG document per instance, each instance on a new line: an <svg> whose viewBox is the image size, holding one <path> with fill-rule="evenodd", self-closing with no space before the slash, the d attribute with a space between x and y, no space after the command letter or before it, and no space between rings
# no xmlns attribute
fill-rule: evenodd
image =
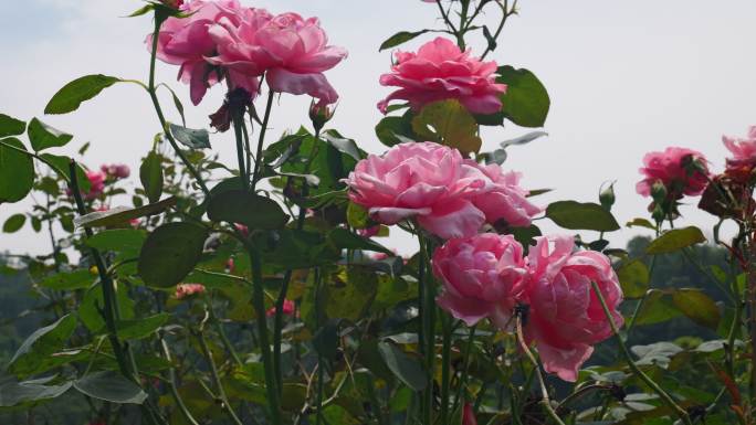
<svg viewBox="0 0 756 425"><path fill-rule="evenodd" d="M381 152L384 147L374 134L380 119L376 103L389 89L377 82L390 65L390 53L378 53L378 45L400 30L440 28L435 7L420 0L242 2L321 18L332 44L349 51L349 57L327 73L342 96L330 125L365 150ZM648 216L648 200L634 193L644 152L672 145L690 147L704 152L712 168L721 170L726 153L721 136L744 135L748 125L756 124L756 1L519 3L519 17L507 23L500 49L490 57L533 71L552 96L546 123L549 137L512 148L504 166L524 172L523 184L528 189L555 189L535 199L544 205L565 199L596 201L601 183L616 180L618 220ZM111 87L71 115L44 117L42 110L61 86L82 75L146 81L149 56L143 41L151 28L149 18L119 18L140 6L137 0L24 0L3 8L0 113L24 120L39 116L75 135L60 153L71 155L91 141L90 167L125 162L138 169L159 125L149 98L136 86ZM486 19L497 18L494 9ZM417 39L402 47L416 49L427 40ZM222 91L212 89L199 107L191 108L188 87L175 81L176 72L160 66L158 78L170 83L185 100L189 127L206 127L207 115L222 102ZM271 134L306 124L307 104L302 97L283 96L272 114ZM170 102L166 99L165 105L168 108ZM525 131L514 126L486 131L484 149ZM213 148L234 163L230 135L213 136ZM132 179L129 185L135 184L138 180ZM24 208L29 204L0 205L0 223ZM713 224L712 217L692 205L682 212L695 224ZM538 224L554 229L546 221ZM638 232L622 230L610 238L621 244ZM0 249L42 253L49 251L48 244L44 235L28 227L0 234ZM392 244L400 252L412 247L403 237Z"/></svg>

